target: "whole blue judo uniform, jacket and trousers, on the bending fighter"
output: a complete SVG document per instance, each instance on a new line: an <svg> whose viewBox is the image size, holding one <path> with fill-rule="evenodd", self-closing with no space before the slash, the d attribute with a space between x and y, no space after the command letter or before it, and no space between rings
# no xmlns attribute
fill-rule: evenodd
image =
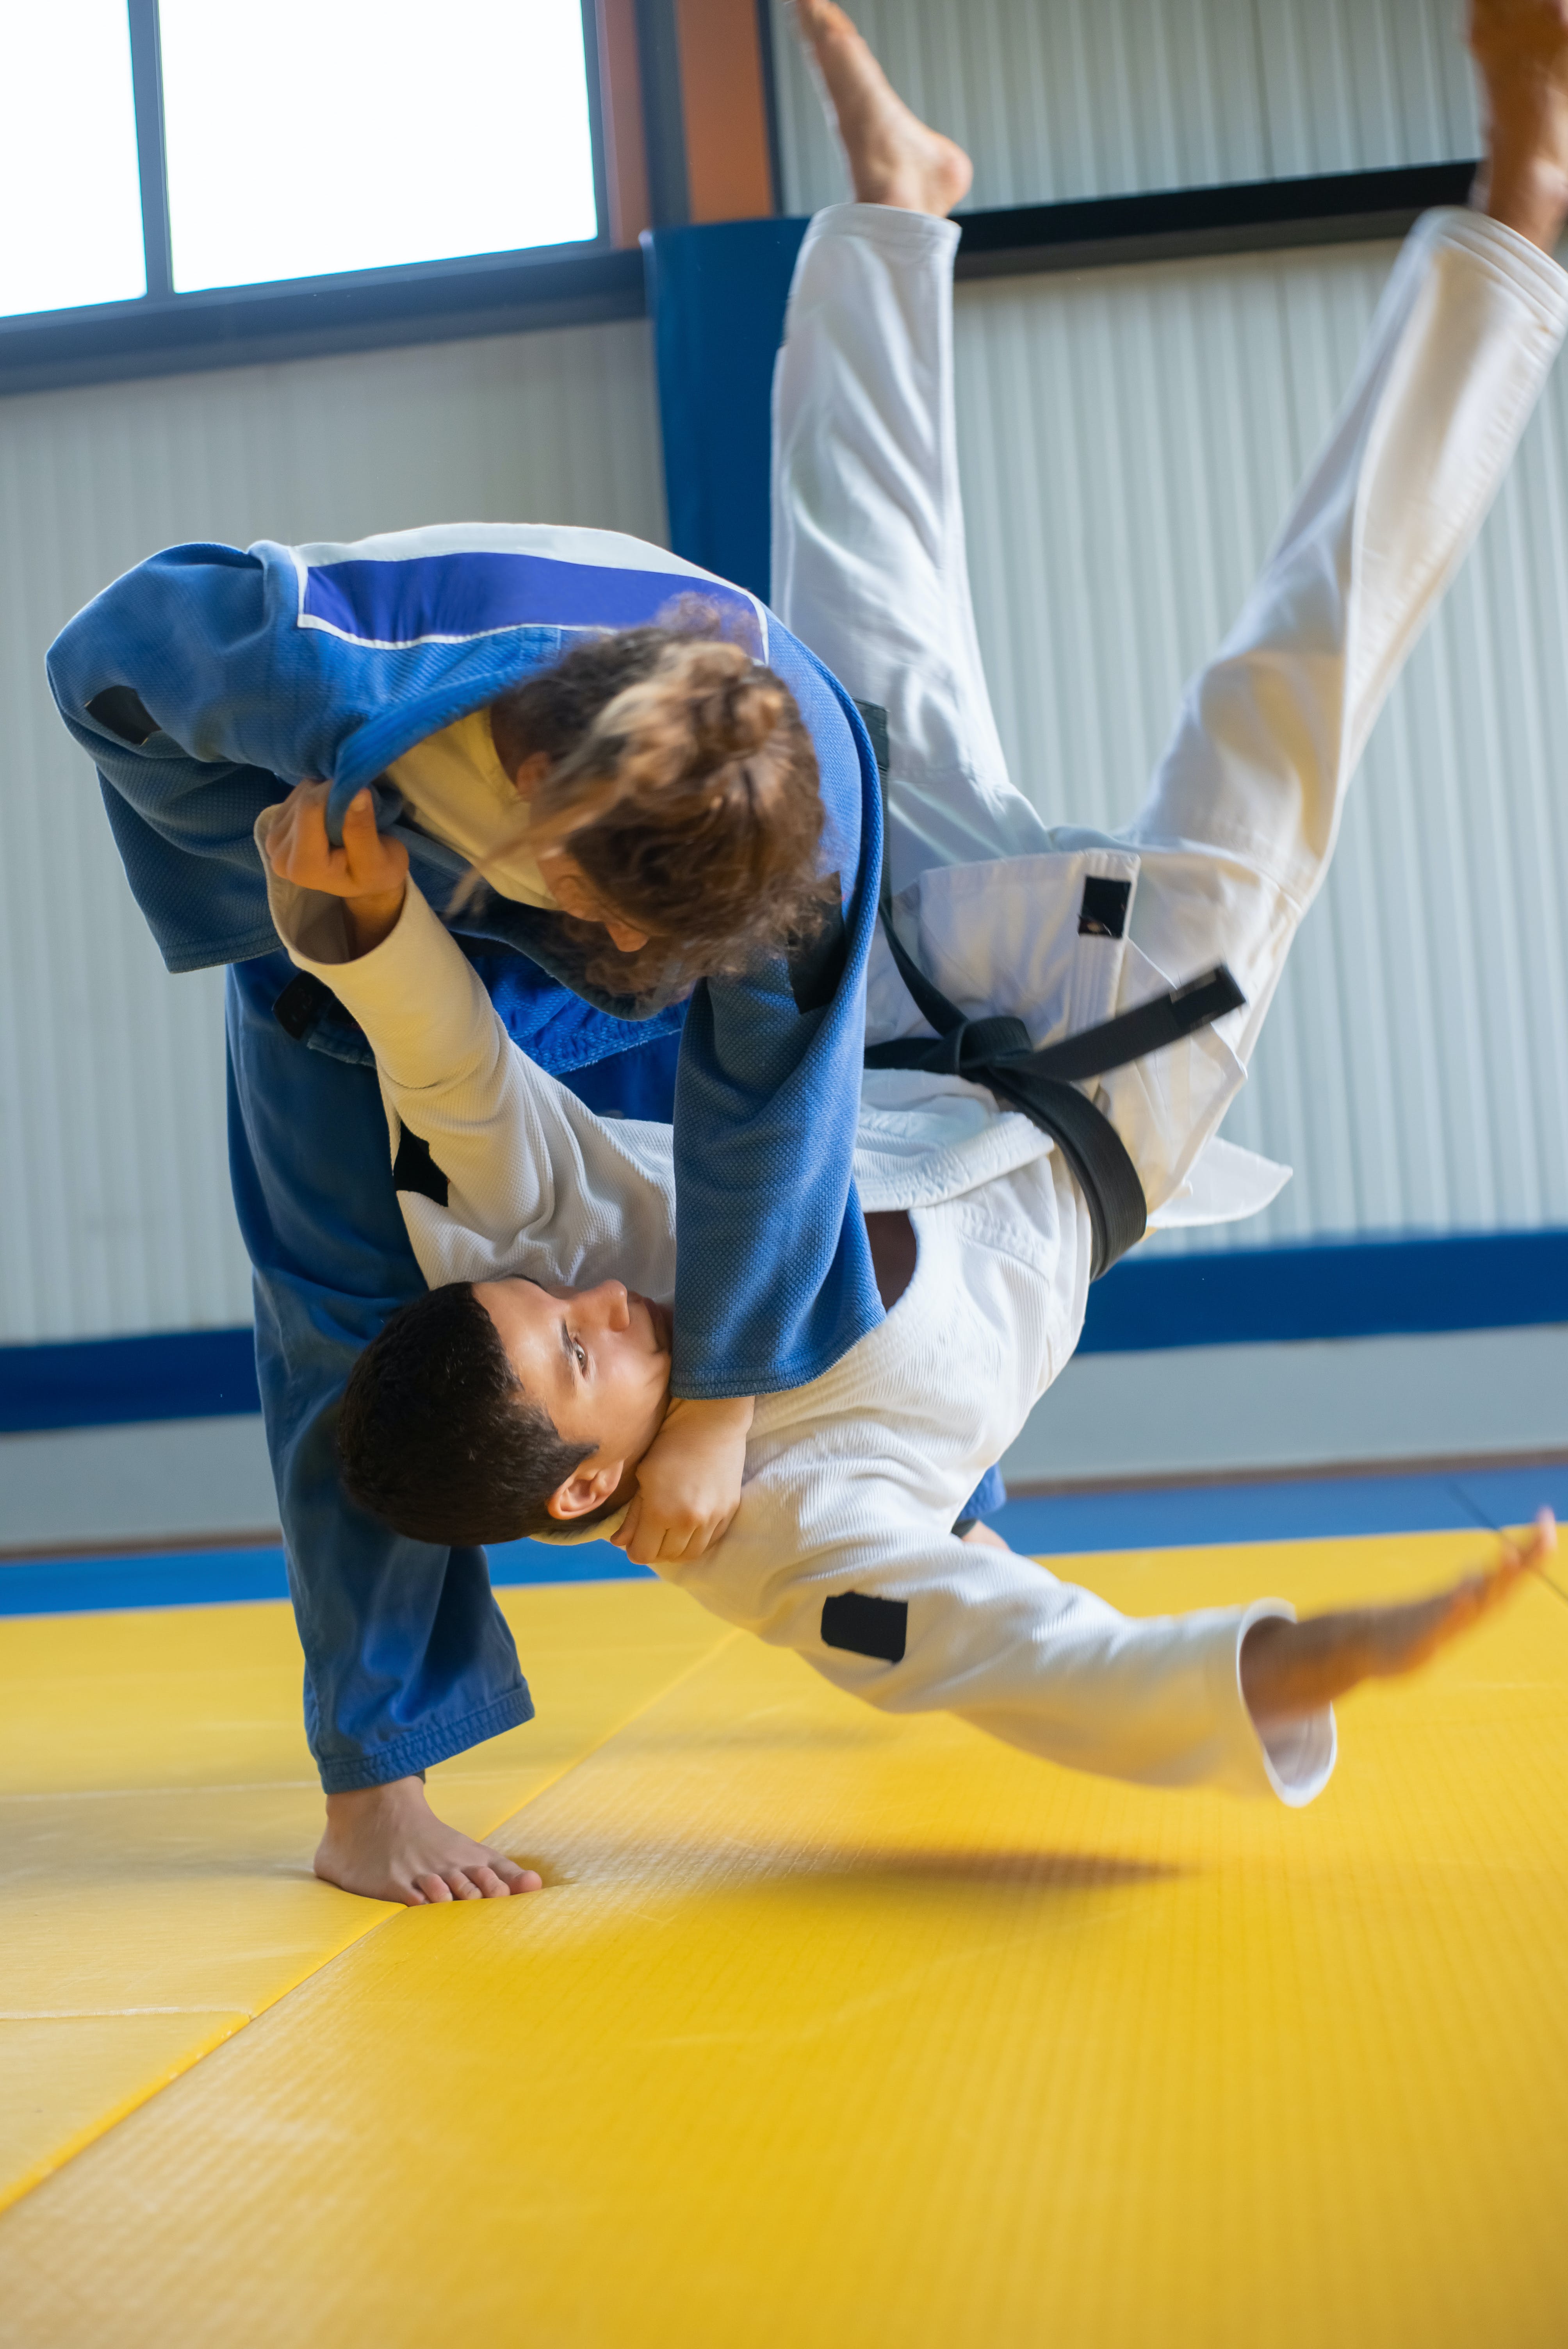
<svg viewBox="0 0 1568 2349"><path fill-rule="evenodd" d="M49 651L136 900L171 970L230 963L230 1167L256 1266L258 1377L331 1790L425 1769L530 1712L484 1553L430 1550L338 1489L331 1421L352 1358L418 1294L369 1048L336 1008L279 1010L251 827L303 778L329 827L415 742L547 667L575 632L655 620L683 592L784 679L822 773L843 958L702 982L636 1019L556 954L554 916L484 895L453 928L516 1041L599 1106L648 1113L678 1041L676 1393L819 1377L880 1320L852 1189L880 794L854 705L753 597L608 531L453 526L357 545L171 547L103 590ZM460 860L404 822L425 895ZM570 980L570 984L568 984ZM641 1050L638 1050L641 1048Z"/></svg>

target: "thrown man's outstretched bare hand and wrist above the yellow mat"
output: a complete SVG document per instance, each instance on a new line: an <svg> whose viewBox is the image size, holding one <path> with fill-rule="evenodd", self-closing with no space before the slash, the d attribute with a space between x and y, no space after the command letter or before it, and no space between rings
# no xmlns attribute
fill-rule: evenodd
<svg viewBox="0 0 1568 2349"><path fill-rule="evenodd" d="M1545 1574L1556 1548L1552 1510L1535 1529L1481 1574L1467 1574L1427 1600L1392 1607L1347 1607L1340 1614L1289 1623L1270 1616L1242 1640L1242 1696L1253 1722L1272 1727L1319 1712L1361 1680L1394 1680L1427 1663L1441 1647L1500 1607L1526 1574Z"/></svg>

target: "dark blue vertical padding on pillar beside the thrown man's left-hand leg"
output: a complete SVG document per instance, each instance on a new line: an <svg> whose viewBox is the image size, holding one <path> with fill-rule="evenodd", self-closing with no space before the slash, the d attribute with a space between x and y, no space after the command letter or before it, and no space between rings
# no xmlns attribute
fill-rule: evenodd
<svg viewBox="0 0 1568 2349"><path fill-rule="evenodd" d="M772 362L805 221L643 240L676 554L768 597Z"/></svg>

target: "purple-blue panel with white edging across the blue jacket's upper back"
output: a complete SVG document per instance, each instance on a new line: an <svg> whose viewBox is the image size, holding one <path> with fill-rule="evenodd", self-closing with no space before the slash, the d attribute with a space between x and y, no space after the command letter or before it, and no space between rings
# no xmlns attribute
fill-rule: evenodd
<svg viewBox="0 0 1568 2349"><path fill-rule="evenodd" d="M300 627L352 644L460 644L507 627L641 627L681 594L716 604L761 658L756 606L739 587L678 571L622 571L549 554L420 554L411 561L310 564Z"/></svg>

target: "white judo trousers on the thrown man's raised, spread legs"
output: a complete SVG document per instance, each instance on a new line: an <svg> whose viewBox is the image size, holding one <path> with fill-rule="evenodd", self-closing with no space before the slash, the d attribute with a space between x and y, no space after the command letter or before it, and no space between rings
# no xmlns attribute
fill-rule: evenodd
<svg viewBox="0 0 1568 2349"><path fill-rule="evenodd" d="M1246 1064L1373 719L1563 338L1568 280L1481 214L1418 223L1329 442L1188 686L1141 813L1089 834L1047 829L1009 782L991 714L953 430L955 249L951 221L880 204L812 221L775 381L772 604L887 709L894 897L934 867L1084 841L1131 850L1131 940L1176 982L1230 965L1246 1008L1221 1034ZM1106 1095L1122 1125L1115 1076Z"/></svg>

